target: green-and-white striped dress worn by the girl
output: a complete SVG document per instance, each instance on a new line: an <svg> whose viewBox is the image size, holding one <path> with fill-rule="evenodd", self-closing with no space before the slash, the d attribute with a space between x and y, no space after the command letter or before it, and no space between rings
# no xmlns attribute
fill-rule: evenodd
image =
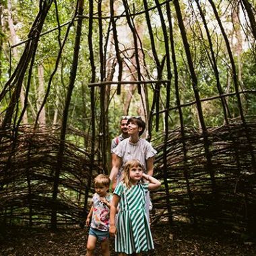
<svg viewBox="0 0 256 256"><path fill-rule="evenodd" d="M148 183L139 183L128 189L123 182L120 182L114 191L114 194L120 197L115 238L117 253L132 254L154 249L145 211L147 191Z"/></svg>

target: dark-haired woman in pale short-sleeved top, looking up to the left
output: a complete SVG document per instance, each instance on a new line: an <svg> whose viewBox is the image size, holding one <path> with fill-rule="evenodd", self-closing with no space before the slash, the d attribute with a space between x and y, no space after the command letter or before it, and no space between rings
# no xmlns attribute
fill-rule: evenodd
<svg viewBox="0 0 256 256"><path fill-rule="evenodd" d="M113 153L117 155L113 161L113 167L110 172L110 180L113 181L117 177L117 184L123 178L123 166L125 163L132 159L137 159L141 162L143 170L150 176L153 176L154 171L154 156L156 150L146 139L141 139L139 136L145 130L146 123L141 117L131 117L127 122L127 129L129 138L123 139ZM147 194L146 199L146 212L149 216L150 197Z"/></svg>

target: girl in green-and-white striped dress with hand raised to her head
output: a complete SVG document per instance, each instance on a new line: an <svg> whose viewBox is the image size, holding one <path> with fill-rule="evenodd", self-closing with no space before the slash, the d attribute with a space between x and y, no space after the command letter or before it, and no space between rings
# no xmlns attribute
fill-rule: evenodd
<svg viewBox="0 0 256 256"><path fill-rule="evenodd" d="M141 183L142 178L148 183ZM160 181L143 172L139 160L129 160L125 164L123 181L117 185L110 207L109 232L111 236L116 235L115 251L119 255L141 255L143 251L154 249L145 211L145 198L148 190L157 189L160 185Z"/></svg>

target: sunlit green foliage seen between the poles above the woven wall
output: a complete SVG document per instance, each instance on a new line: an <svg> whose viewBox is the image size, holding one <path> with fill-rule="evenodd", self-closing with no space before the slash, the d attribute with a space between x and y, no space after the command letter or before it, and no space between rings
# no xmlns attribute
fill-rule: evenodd
<svg viewBox="0 0 256 256"><path fill-rule="evenodd" d="M162 3L163 1L160 1ZM6 2L5 2L6 3ZM66 22L71 21L73 18L73 13L75 10L76 1L57 1L57 9L58 9L58 17L59 23L65 24ZM115 3L116 9L120 12L119 4ZM148 1L148 8L152 8L155 6L154 1ZM216 86L216 76L214 75L214 70L210 61L210 42L207 40L207 36L205 33L205 29L203 28L202 20L199 16L199 11L195 5L195 3L182 1L180 3L181 11L183 13L183 22L185 24L187 39L190 45L191 56L194 63L195 73L197 75L197 90L199 91L199 95L201 98L209 98L212 96L218 96L219 92ZM139 13L139 11L143 11L143 1L129 1L130 11L131 13ZM224 26L229 26L230 24L230 15L226 9L230 8L227 3L218 1L219 15L222 16L222 22ZM22 0L22 1L13 1L12 8L12 17L13 22L15 24L15 31L20 40L26 40L28 33L30 32L30 28L36 18L36 15L39 11L38 1L36 3L31 3L30 0ZM218 28L218 24L216 23L216 19L214 19L214 13L212 12L212 8L206 3L201 4L203 11L205 11L205 18L207 19L209 30L212 37L212 43L214 48L214 53L218 65L218 71L220 74L220 84L222 86L222 90L224 93L234 92L234 86L232 83L232 72L230 71L230 60L227 55L226 45L224 43L223 37L220 33L220 29ZM6 8L6 6L5 6ZM168 37L170 35L170 30L168 28L168 20L165 11L165 5L162 5L162 11L164 15L164 20L166 22ZM175 57L177 61L178 73L179 73L179 98L181 100L181 104L187 104L189 102L195 101L195 94L193 91L193 86L191 84L191 75L189 71L189 67L187 65L187 56L185 53L185 49L183 46L183 40L181 38L181 33L179 30L179 25L177 22L177 16L172 3L170 3L170 10L172 15L172 26L173 26L173 40L174 40L174 51ZM97 14L97 5L94 4L94 13L95 17ZM81 46L79 49L79 65L77 67L77 75L75 77L75 86L73 89L73 95L71 98L71 105L69 108L69 125L71 127L75 127L79 130L86 131L90 133L91 129L91 113L90 113L90 88L88 84L92 79L92 70L90 65L90 54L88 49L88 12L89 12L89 4L88 1L85 1L84 4L84 20L82 26L82 38L81 38ZM117 13L119 13L117 12ZM121 13L121 12L120 12ZM109 3L107 1L102 2L102 17L106 18L109 16ZM211 20L211 23L209 21ZM150 10L150 21L154 33L154 42L156 45L156 52L158 55L158 59L160 62L164 59L165 53L165 45L164 45L164 36L162 31L162 26L160 22L160 17L158 14L157 8L153 8ZM232 20L231 20L232 21ZM145 14L142 13L140 15L133 16L133 22L138 28L141 30L139 34L141 36L141 42L143 47L143 60L141 59L141 67L143 67L143 77L145 79L158 79L157 77L157 68L156 63L154 61L152 47L150 42L150 36L148 34L148 29L146 26ZM117 19L117 28L126 24L125 18ZM69 77L71 72L71 64L73 61L73 46L75 43L75 31L76 31L77 22L73 24L71 30L69 32L69 36L67 37L67 42L63 49L63 53L61 55L61 60L59 62L57 72L53 77L53 81L51 82L51 90L49 92L48 99L46 100L46 122L51 125L53 123L53 119L57 114L57 123L61 123L61 118L63 115L63 106L65 104L65 96L67 93L67 86L69 85ZM126 24L127 25L127 24ZM55 63L57 61L57 56L60 51L59 41L63 43L65 34L67 32L67 26L62 26L60 31L55 29L58 26L57 22L57 12L55 8L55 3L52 4L49 14L46 16L46 21L44 22L43 32L47 32L52 30L49 33L44 34L40 37L40 42L38 44L38 49L36 52L36 60L34 64L34 69L32 73L32 82L29 93L29 105L28 105L28 118L31 123L34 122L34 115L32 113L36 113L36 102L38 101L38 84L40 82L38 77L38 65L42 65L44 69L44 90L49 84L49 79L51 74L55 69ZM129 46L123 46L123 42L121 36L119 36L120 48L126 49L126 51L122 52L121 57L125 63L125 58L131 57L133 54L132 51L128 51L127 49L132 48L133 38L131 36L131 31L129 30L129 26L127 27L127 38L131 41ZM96 82L100 81L100 47L106 46L106 60L109 61L111 58L115 57L115 48L110 48L112 42L111 32L108 34L109 28L109 20L102 20L102 38L103 45L100 45L98 42L99 39L99 28L98 28L98 19L93 20L93 31L92 31L92 42L94 46L94 65L96 67ZM236 24L236 29L238 26ZM111 28L110 28L111 29ZM228 27L227 35L232 36L232 28ZM7 28L2 29L0 32L0 36L4 41L4 49L5 53L7 53L7 38L9 37L9 30ZM106 40L108 39L108 42ZM231 41L231 38L229 38ZM170 49L170 42L169 49ZM139 45L140 47L140 45ZM24 49L24 44L21 44L16 48L18 50L18 55L22 55L22 51ZM122 49L122 50L123 50ZM250 90L255 88L255 55L251 54L251 50L246 51L243 50L244 53L241 56L242 63L242 81L241 87L243 90ZM126 55L125 55L126 54ZM18 59L11 59L11 70L9 71L9 57L5 55L1 55L1 88L7 79L9 78L9 74L13 73ZM142 57L141 57L142 58ZM211 57L212 58L212 57ZM234 53L234 59L236 61L236 68L238 70L238 57ZM127 61L127 60L126 60ZM128 62L128 61L127 61ZM111 63L111 62L110 62ZM175 129L180 126L180 117L177 108L177 92L174 89L174 66L172 60L170 61L172 79L170 86L170 110L169 113L169 129ZM117 69L117 67L116 67ZM124 76L126 76L125 74ZM25 76L24 87L26 87L28 73ZM124 77L123 76L123 77ZM164 65L164 69L162 72L161 79L167 78L167 70L166 65ZM117 79L117 72L115 73L114 79ZM135 77L136 79L136 77ZM154 95L154 86L148 85L147 89L147 97L148 97L148 108L151 109ZM128 88L128 86L123 87ZM122 89L121 96L116 95L117 86L112 86L110 90L110 102L108 104L108 137L114 137L117 134L117 127L119 125L119 117L124 115L123 105L125 100L127 99L128 90ZM161 94L160 94L160 110L166 108L166 86L161 86ZM1 112L5 110L7 107L7 103L9 102L10 94L7 94L5 99L1 102ZM99 123L100 123L100 98L99 91L96 89L96 129L99 131ZM246 96L241 96L243 100L243 107L245 113L247 115L255 114L255 96L254 94L250 94ZM131 100L131 104L129 106L129 115L137 115L138 108L141 108L139 104L141 97L137 94L137 89L133 94L133 98ZM234 96L228 97L228 104L230 108L231 117L238 117L238 106L237 101ZM222 104L220 98L216 100L208 100L201 102L201 106L203 108L203 114L205 118L205 124L207 126L216 126L222 125L224 123L224 116L222 110ZM186 106L182 108L183 112L183 120L185 125L199 125L198 116L197 116L197 108L196 104L192 104L191 106ZM155 119L153 122L153 126L155 127ZM160 132L164 131L164 114L160 115ZM153 130L153 135L157 135L157 133Z"/></svg>

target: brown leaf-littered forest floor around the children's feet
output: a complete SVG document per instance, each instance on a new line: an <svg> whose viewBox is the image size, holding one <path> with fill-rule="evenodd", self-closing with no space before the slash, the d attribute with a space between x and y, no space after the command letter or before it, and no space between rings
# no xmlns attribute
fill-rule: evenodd
<svg viewBox="0 0 256 256"><path fill-rule="evenodd" d="M144 255L154 256L205 256L232 255L256 256L256 243L244 243L235 234L205 228L199 230L175 224L152 226L155 250ZM1 256L80 256L86 255L88 228L65 228L51 232L46 228L0 228ZM110 255L114 239L110 238ZM96 249L95 255L100 256Z"/></svg>

